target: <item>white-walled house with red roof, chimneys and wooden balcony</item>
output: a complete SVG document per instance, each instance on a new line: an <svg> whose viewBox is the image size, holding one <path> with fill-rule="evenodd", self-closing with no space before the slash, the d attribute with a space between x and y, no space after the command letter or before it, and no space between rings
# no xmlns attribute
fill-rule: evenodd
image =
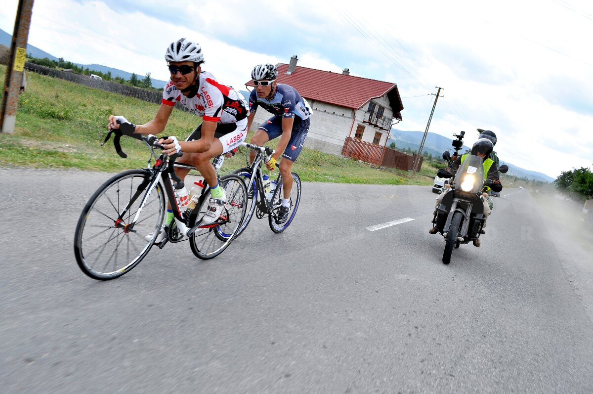
<svg viewBox="0 0 593 394"><path fill-rule="evenodd" d="M279 63L279 84L288 84L307 99L313 114L305 147L342 154L347 138L385 145L391 125L401 120L403 104L393 82L369 80L350 75L297 66L297 56L289 64ZM253 82L246 83L253 90ZM251 130L272 116L259 109Z"/></svg>

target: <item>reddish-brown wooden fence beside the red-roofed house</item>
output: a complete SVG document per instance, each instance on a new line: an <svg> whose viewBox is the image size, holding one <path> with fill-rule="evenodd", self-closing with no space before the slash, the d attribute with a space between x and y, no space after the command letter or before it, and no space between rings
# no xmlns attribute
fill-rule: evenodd
<svg viewBox="0 0 593 394"><path fill-rule="evenodd" d="M382 147L381 145L361 141L352 137L347 137L344 141L342 155L375 164L375 166L391 167L406 171L412 170L414 158L416 157L416 154L410 156L391 148ZM422 167L422 159L420 157L416 171L419 171L420 167Z"/></svg>

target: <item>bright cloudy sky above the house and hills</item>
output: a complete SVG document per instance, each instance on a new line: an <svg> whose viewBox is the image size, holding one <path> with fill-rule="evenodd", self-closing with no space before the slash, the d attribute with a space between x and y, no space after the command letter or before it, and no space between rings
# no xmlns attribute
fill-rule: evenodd
<svg viewBox="0 0 593 394"><path fill-rule="evenodd" d="M2 0L8 33L17 5ZM593 163L591 1L35 0L28 42L168 80L164 52L180 37L241 90L254 65L298 55L299 66L396 83L398 129L425 130L438 86L431 132L464 130L471 146L490 129L500 160L551 177Z"/></svg>

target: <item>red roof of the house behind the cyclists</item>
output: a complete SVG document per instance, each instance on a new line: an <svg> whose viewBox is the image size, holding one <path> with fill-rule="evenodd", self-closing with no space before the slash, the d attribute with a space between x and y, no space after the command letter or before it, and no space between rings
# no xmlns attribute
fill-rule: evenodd
<svg viewBox="0 0 593 394"><path fill-rule="evenodd" d="M352 109L359 109L369 100L394 90L389 95L393 117L401 119L400 111L403 109L403 105L397 85L392 82L369 80L368 78L299 66L292 74L288 75L286 74L288 64L279 63L276 67L278 68L276 80L280 84L291 85L305 99L323 101ZM245 85L253 87L253 82L250 80Z"/></svg>

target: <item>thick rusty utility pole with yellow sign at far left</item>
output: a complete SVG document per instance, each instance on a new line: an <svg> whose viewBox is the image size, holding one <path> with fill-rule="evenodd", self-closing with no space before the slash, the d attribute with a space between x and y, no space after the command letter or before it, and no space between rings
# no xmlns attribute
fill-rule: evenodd
<svg viewBox="0 0 593 394"><path fill-rule="evenodd" d="M13 133L17 122L18 94L21 90L25 59L27 59L27 39L33 0L19 0L17 18L14 21L14 31L10 45L10 56L6 68L4 90L2 90L2 108L0 110L1 132Z"/></svg>

